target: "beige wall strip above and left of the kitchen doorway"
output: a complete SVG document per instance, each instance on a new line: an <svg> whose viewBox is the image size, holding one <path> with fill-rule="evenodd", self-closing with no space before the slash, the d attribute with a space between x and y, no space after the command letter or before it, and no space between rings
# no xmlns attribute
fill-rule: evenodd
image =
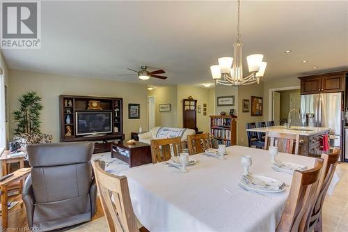
<svg viewBox="0 0 348 232"><path fill-rule="evenodd" d="M300 86L300 80L297 77L275 78L264 82L264 121L268 121L269 119L269 89L294 86Z"/></svg>

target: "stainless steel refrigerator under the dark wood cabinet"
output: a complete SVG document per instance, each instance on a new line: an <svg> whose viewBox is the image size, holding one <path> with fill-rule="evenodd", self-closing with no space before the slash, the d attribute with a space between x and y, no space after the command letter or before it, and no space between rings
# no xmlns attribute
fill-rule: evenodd
<svg viewBox="0 0 348 232"><path fill-rule="evenodd" d="M301 95L301 125L329 127L330 146L342 150L343 118L342 93Z"/></svg>

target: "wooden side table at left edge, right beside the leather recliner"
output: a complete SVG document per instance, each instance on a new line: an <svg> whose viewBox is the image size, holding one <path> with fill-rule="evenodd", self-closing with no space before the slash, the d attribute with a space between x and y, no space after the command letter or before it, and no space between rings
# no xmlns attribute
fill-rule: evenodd
<svg viewBox="0 0 348 232"><path fill-rule="evenodd" d="M6 180L0 182L1 191L1 219L2 219L2 230L6 231L8 227L8 212L12 211L16 206L8 210L8 188L16 182L21 182L24 184L25 178L29 176L31 168L18 169L13 172L13 176L10 176ZM19 201L18 205L23 203L22 194L15 196L11 201Z"/></svg>

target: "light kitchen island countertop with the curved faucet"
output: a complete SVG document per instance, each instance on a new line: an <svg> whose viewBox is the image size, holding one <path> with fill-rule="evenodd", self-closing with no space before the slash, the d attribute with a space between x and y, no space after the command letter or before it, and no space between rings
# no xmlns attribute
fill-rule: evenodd
<svg viewBox="0 0 348 232"><path fill-rule="evenodd" d="M303 136L310 136L313 134L324 133L324 132L327 132L328 130L330 130L329 127L300 127L300 126L292 126L291 129L287 129L283 125L246 129L246 131L252 131L252 132L278 132L278 133L287 133L287 134L300 134Z"/></svg>

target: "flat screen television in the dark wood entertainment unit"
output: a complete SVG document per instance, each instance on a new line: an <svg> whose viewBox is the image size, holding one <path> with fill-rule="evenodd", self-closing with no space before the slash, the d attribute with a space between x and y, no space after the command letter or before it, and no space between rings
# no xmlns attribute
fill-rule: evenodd
<svg viewBox="0 0 348 232"><path fill-rule="evenodd" d="M112 132L111 111L77 111L76 135L107 134Z"/></svg>

